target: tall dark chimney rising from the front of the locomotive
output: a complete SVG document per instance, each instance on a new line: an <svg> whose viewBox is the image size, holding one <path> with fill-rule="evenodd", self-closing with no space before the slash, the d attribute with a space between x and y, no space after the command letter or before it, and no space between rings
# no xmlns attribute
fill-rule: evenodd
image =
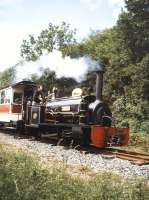
<svg viewBox="0 0 149 200"><path fill-rule="evenodd" d="M103 70L96 71L96 100L102 100Z"/></svg>

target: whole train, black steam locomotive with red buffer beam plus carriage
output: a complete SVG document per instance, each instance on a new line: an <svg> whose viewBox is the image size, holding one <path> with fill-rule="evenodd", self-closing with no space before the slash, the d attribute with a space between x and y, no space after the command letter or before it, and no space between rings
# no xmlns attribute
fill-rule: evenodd
<svg viewBox="0 0 149 200"><path fill-rule="evenodd" d="M103 71L96 71L96 95L77 94L32 104L37 86L22 81L0 90L0 124L37 135L71 138L99 148L127 145L128 128L111 127L112 113L102 101Z"/></svg>

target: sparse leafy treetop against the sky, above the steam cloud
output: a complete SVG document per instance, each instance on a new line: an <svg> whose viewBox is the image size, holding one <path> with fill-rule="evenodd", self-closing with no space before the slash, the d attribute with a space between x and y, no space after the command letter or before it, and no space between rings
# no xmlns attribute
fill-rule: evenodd
<svg viewBox="0 0 149 200"><path fill-rule="evenodd" d="M45 51L52 52L54 49L58 49L66 54L68 46L76 42L75 32L75 30L70 30L69 24L65 22L60 26L50 23L48 28L42 30L37 38L29 35L27 40L23 40L21 56L27 61L35 61Z"/></svg>

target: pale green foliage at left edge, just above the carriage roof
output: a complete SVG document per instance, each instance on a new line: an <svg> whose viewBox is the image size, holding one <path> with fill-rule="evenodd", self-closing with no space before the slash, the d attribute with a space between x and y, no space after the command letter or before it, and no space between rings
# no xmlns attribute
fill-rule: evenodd
<svg viewBox="0 0 149 200"><path fill-rule="evenodd" d="M15 80L15 67L0 72L0 88L10 85Z"/></svg>

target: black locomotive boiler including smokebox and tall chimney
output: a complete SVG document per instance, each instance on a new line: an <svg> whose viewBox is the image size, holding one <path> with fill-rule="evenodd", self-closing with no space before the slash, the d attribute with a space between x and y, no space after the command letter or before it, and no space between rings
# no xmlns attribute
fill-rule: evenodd
<svg viewBox="0 0 149 200"><path fill-rule="evenodd" d="M96 71L96 96L75 94L47 102L49 117L58 123L111 126L112 113L102 101L103 71ZM54 120L53 118L53 120Z"/></svg>

